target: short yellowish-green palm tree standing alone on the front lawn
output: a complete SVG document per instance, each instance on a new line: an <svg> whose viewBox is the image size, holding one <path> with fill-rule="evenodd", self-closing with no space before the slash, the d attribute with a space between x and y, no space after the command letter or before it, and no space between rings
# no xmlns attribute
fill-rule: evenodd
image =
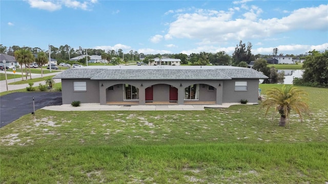
<svg viewBox="0 0 328 184"><path fill-rule="evenodd" d="M306 93L293 85L283 85L281 88L273 87L268 90L262 107L266 108L265 116L271 107L280 114L279 126L285 126L290 111L295 110L302 120L302 112L309 114L309 106L304 102Z"/></svg>

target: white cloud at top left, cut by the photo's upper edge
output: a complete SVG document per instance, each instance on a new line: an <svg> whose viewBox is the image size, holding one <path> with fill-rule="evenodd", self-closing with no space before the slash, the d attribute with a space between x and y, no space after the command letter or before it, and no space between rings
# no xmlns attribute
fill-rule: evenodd
<svg viewBox="0 0 328 184"><path fill-rule="evenodd" d="M61 9L61 6L64 5L67 8L73 9L82 9L82 10L89 10L91 4L97 3L97 0L91 1L75 1L75 0L65 0L65 1L36 1L36 0L28 0L31 8L38 8L42 10L48 11L56 11Z"/></svg>

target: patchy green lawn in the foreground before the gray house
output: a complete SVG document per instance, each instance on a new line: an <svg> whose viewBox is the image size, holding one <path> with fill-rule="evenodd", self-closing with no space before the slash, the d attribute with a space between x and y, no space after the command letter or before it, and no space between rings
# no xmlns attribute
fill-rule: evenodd
<svg viewBox="0 0 328 184"><path fill-rule="evenodd" d="M275 85L261 84L267 91ZM328 89L290 129L259 105L205 111L37 110L1 128L2 183L325 183Z"/></svg>

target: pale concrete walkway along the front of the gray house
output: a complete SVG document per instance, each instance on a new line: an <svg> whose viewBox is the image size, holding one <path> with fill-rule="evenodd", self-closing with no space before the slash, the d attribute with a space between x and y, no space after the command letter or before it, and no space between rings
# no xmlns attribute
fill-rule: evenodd
<svg viewBox="0 0 328 184"><path fill-rule="evenodd" d="M248 103L256 105L258 103ZM245 105L240 103L223 103L222 105L100 105L99 103L83 103L79 107L71 104L43 107L45 110L55 111L90 111L90 110L205 110L204 108L228 108L231 105Z"/></svg>

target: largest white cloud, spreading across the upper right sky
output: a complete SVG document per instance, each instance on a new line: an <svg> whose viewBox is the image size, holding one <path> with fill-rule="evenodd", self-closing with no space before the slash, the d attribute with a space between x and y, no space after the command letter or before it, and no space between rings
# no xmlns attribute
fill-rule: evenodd
<svg viewBox="0 0 328 184"><path fill-rule="evenodd" d="M282 18L262 19L262 9L250 6L244 18L232 19L234 10L196 10L194 13L177 14L169 25L165 39L199 39L213 44L252 38L270 38L275 34L294 30L328 30L328 5L302 8ZM306 24L304 24L306 22ZM242 29L241 29L242 28Z"/></svg>

